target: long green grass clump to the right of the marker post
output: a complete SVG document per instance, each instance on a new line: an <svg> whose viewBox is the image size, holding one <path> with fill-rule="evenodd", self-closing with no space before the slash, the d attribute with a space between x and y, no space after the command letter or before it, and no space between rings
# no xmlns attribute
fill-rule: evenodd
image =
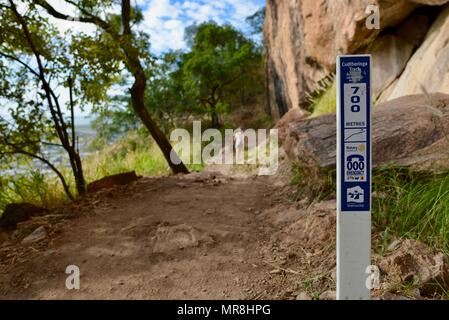
<svg viewBox="0 0 449 320"><path fill-rule="evenodd" d="M373 178L373 218L381 228L449 250L449 173L381 169Z"/></svg>

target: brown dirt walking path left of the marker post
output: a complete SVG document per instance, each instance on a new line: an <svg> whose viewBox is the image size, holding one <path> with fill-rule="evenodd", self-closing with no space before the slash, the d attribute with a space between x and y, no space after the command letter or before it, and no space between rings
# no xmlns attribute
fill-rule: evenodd
<svg viewBox="0 0 449 320"><path fill-rule="evenodd" d="M262 214L276 192L268 178L210 173L102 191L47 225L45 241L3 245L0 298L285 298L294 288L267 262L276 228ZM68 265L80 290L65 287Z"/></svg>

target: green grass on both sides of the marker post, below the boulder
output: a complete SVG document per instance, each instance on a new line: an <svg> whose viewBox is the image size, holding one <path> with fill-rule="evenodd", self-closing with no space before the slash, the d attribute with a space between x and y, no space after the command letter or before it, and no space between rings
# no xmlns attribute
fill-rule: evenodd
<svg viewBox="0 0 449 320"><path fill-rule="evenodd" d="M335 198L335 171L320 173L294 166L292 177L300 198ZM393 235L449 253L449 172L432 175L406 168L375 169L373 191L373 223L383 235L381 253Z"/></svg>

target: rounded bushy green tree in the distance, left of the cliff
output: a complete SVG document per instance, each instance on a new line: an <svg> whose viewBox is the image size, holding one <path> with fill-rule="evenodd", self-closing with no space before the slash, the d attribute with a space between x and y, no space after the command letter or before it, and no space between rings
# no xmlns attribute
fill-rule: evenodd
<svg viewBox="0 0 449 320"><path fill-rule="evenodd" d="M235 100L236 88L245 87L247 81L261 83L254 77L261 59L260 48L232 26L213 22L197 26L180 72L186 94L210 115L212 127L221 126L220 114Z"/></svg>

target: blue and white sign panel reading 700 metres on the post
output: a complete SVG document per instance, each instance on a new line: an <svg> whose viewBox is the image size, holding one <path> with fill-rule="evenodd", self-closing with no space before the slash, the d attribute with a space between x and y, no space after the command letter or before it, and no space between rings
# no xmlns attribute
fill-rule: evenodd
<svg viewBox="0 0 449 320"><path fill-rule="evenodd" d="M371 211L371 57L340 56L339 204L341 212Z"/></svg>

